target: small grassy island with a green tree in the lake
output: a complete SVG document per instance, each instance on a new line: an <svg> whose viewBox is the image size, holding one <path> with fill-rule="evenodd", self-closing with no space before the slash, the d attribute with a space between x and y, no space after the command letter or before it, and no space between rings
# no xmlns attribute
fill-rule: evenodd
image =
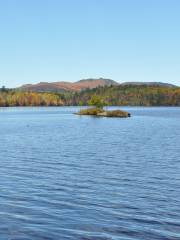
<svg viewBox="0 0 180 240"><path fill-rule="evenodd" d="M103 107L107 105L105 101L103 101L97 95L92 96L91 100L88 102L89 106L92 106L87 109L80 109L79 112L75 113L77 115L91 115L97 117L118 117L118 118L127 118L130 117L131 114L122 111L122 110L104 110ZM82 103L79 103L79 106L82 106Z"/></svg>

